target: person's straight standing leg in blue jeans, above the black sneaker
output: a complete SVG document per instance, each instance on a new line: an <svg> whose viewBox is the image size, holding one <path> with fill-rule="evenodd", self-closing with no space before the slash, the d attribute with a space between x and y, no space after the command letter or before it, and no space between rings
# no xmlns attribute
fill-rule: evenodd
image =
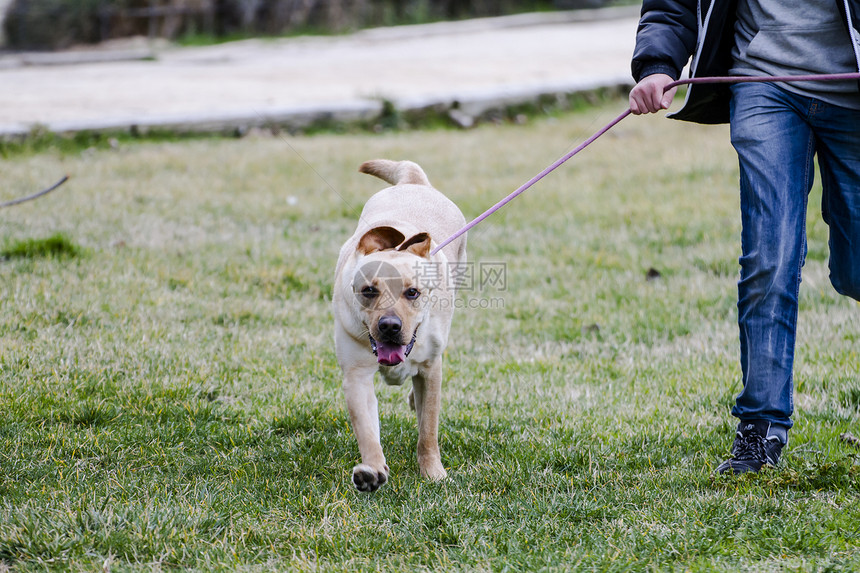
<svg viewBox="0 0 860 573"><path fill-rule="evenodd" d="M800 269L814 176L811 100L771 84L732 88L732 145L741 191L738 282L743 391L732 414L742 422L791 427ZM784 432L783 432L784 433Z"/></svg>

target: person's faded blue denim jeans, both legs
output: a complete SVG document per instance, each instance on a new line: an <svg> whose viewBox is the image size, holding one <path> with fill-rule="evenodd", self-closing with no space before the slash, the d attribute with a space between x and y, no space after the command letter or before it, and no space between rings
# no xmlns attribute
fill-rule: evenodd
<svg viewBox="0 0 860 573"><path fill-rule="evenodd" d="M824 192L821 210L830 228L830 282L860 300L860 111L774 84L735 84L731 137L740 162L738 325L744 385L732 415L790 428L815 155Z"/></svg>

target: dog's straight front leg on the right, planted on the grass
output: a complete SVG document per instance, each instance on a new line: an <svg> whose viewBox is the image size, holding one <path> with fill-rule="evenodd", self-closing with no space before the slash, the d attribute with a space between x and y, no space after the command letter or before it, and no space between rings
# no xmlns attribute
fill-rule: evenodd
<svg viewBox="0 0 860 573"><path fill-rule="evenodd" d="M415 414L418 417L418 468L421 477L434 481L448 477L439 453L439 410L442 406L442 359L412 378Z"/></svg>

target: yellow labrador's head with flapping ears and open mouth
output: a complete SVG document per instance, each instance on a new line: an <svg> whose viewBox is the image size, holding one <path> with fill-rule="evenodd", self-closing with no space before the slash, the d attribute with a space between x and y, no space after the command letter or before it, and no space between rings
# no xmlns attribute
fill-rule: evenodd
<svg viewBox="0 0 860 573"><path fill-rule="evenodd" d="M358 243L352 291L379 364L403 362L415 344L433 281L430 235L406 238L392 227L371 229Z"/></svg>

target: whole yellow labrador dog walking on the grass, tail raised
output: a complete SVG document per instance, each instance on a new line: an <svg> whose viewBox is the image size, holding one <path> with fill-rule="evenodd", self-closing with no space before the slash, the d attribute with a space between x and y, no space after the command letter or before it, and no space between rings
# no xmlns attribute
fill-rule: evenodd
<svg viewBox="0 0 860 573"><path fill-rule="evenodd" d="M359 171L393 185L365 204L341 248L332 296L335 351L361 453L352 482L359 491L374 491L388 480L373 389L377 371L390 385L412 379L418 467L425 478L447 476L438 440L442 352L454 314L450 271L466 261L466 237L432 257L430 251L466 221L415 163L377 159Z"/></svg>

